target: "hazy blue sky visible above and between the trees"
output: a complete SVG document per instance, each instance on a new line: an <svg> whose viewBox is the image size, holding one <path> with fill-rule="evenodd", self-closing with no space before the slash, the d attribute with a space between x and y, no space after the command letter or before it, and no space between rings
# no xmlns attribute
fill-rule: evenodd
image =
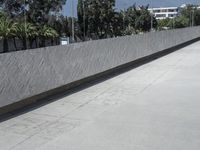
<svg viewBox="0 0 200 150"><path fill-rule="evenodd" d="M74 1L75 13L77 0L67 0L67 4L64 7L63 14L71 15L71 3ZM165 7L165 6L180 6L181 4L198 4L200 0L116 0L116 7L119 9L127 8L132 4L147 5L150 4L152 7Z"/></svg>

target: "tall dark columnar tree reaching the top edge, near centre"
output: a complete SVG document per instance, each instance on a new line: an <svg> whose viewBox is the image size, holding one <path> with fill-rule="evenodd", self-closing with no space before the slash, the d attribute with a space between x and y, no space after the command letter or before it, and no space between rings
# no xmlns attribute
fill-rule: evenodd
<svg viewBox="0 0 200 150"><path fill-rule="evenodd" d="M112 18L115 16L115 0L86 0L86 17L90 36L112 36Z"/></svg>

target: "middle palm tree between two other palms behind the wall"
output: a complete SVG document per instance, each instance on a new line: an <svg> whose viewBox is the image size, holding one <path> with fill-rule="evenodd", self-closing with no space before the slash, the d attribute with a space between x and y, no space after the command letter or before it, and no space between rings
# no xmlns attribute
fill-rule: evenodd
<svg viewBox="0 0 200 150"><path fill-rule="evenodd" d="M16 36L22 41L24 50L27 49L27 41L31 41L37 35L37 29L31 23L18 23L16 25Z"/></svg>

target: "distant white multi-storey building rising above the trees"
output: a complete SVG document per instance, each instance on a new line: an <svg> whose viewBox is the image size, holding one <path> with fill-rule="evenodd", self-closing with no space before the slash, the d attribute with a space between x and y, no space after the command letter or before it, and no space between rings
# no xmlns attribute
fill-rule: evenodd
<svg viewBox="0 0 200 150"><path fill-rule="evenodd" d="M178 7L162 7L162 8L149 8L149 11L154 14L156 19L175 18L178 16Z"/></svg>

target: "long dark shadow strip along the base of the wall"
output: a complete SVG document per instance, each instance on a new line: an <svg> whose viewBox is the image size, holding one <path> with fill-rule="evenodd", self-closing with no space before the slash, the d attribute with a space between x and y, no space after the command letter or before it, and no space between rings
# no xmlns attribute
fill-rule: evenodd
<svg viewBox="0 0 200 150"><path fill-rule="evenodd" d="M3 115L0 115L0 123L6 120L9 120L11 118L14 118L16 116L25 114L27 112L30 112L32 110L38 109L42 106L48 105L52 102L55 102L63 97L67 97L69 95L72 95L74 93L80 92L84 89L87 89L89 87L95 86L101 82L104 82L108 79L114 78L120 74L123 74L125 72L128 72L134 68L140 67L142 65L145 65L151 61L154 61L158 58L161 58L165 55L168 55L172 52L175 52L177 50L180 50L194 42L199 41L200 38L194 39L192 41L186 42L184 44L172 47L170 49L166 49L164 51L152 54L150 56L135 60L133 62L121 65L119 67L113 68L111 70L105 71L103 73L85 78L80 81L76 81L73 83L70 83L69 85L59 87L57 89L48 91L46 93L42 93L40 95L31 97L29 99L22 100L21 102L6 106L5 110L14 110L8 113L5 113ZM27 103L28 102L28 103ZM24 106L23 106L24 105ZM17 109L19 107L19 109ZM22 107L22 108L20 108Z"/></svg>

